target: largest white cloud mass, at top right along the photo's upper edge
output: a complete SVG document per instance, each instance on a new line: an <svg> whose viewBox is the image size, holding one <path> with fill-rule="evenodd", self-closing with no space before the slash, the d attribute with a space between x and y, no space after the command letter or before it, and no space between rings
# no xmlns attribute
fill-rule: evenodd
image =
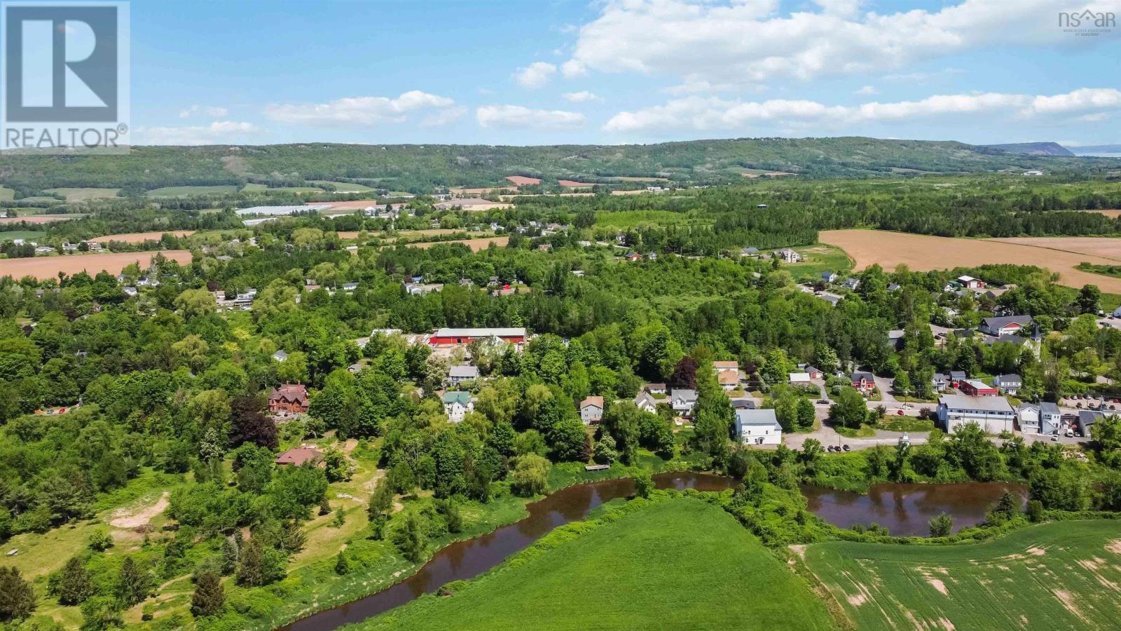
<svg viewBox="0 0 1121 631"><path fill-rule="evenodd" d="M770 0L605 0L600 15L581 26L562 72L639 72L750 86L886 72L990 45L1087 46L1096 42L1063 33L1057 12L1115 8L1118 0L961 0L891 13L860 13L860 2L850 0L816 4L816 11L784 13Z"/></svg>

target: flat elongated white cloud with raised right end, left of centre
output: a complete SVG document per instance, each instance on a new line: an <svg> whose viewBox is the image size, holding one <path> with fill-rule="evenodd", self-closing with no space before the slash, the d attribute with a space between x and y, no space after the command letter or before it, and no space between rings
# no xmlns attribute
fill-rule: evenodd
<svg viewBox="0 0 1121 631"><path fill-rule="evenodd" d="M352 97L327 103L274 103L265 108L265 116L291 125L321 125L335 127L367 127L383 122L404 122L417 110L443 110L455 106L447 97L419 90L388 97Z"/></svg>

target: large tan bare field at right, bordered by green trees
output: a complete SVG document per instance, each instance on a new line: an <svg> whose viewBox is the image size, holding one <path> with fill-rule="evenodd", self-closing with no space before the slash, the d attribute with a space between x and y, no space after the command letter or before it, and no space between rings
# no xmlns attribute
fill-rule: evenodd
<svg viewBox="0 0 1121 631"><path fill-rule="evenodd" d="M1058 249L1044 250L1035 246L1007 243L1003 239L955 239L884 230L823 230L817 239L845 250L855 262L856 269L863 269L873 263L880 264L887 271L895 269L899 264L906 264L915 272L997 263L1037 265L1057 273L1059 283L1064 285L1081 287L1092 284L1097 285L1103 292L1121 293L1121 278L1075 269L1082 262L1101 265L1118 263L1117 258L1108 256ZM1067 237L1048 240L1065 239ZM1072 239L1083 240L1084 237L1072 237ZM1121 240L1118 243L1121 244Z"/></svg>

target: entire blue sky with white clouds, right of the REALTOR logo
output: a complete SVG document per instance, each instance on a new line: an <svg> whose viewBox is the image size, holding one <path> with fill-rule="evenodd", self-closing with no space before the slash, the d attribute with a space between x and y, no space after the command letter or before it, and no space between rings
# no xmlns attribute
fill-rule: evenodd
<svg viewBox="0 0 1121 631"><path fill-rule="evenodd" d="M139 144L1121 143L1121 0L131 2Z"/></svg>

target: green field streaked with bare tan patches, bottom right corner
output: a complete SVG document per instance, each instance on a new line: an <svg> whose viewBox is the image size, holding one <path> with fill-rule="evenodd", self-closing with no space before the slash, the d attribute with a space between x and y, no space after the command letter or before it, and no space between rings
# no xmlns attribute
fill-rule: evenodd
<svg viewBox="0 0 1121 631"><path fill-rule="evenodd" d="M834 541L805 559L858 629L1121 629L1119 521L961 546Z"/></svg>

